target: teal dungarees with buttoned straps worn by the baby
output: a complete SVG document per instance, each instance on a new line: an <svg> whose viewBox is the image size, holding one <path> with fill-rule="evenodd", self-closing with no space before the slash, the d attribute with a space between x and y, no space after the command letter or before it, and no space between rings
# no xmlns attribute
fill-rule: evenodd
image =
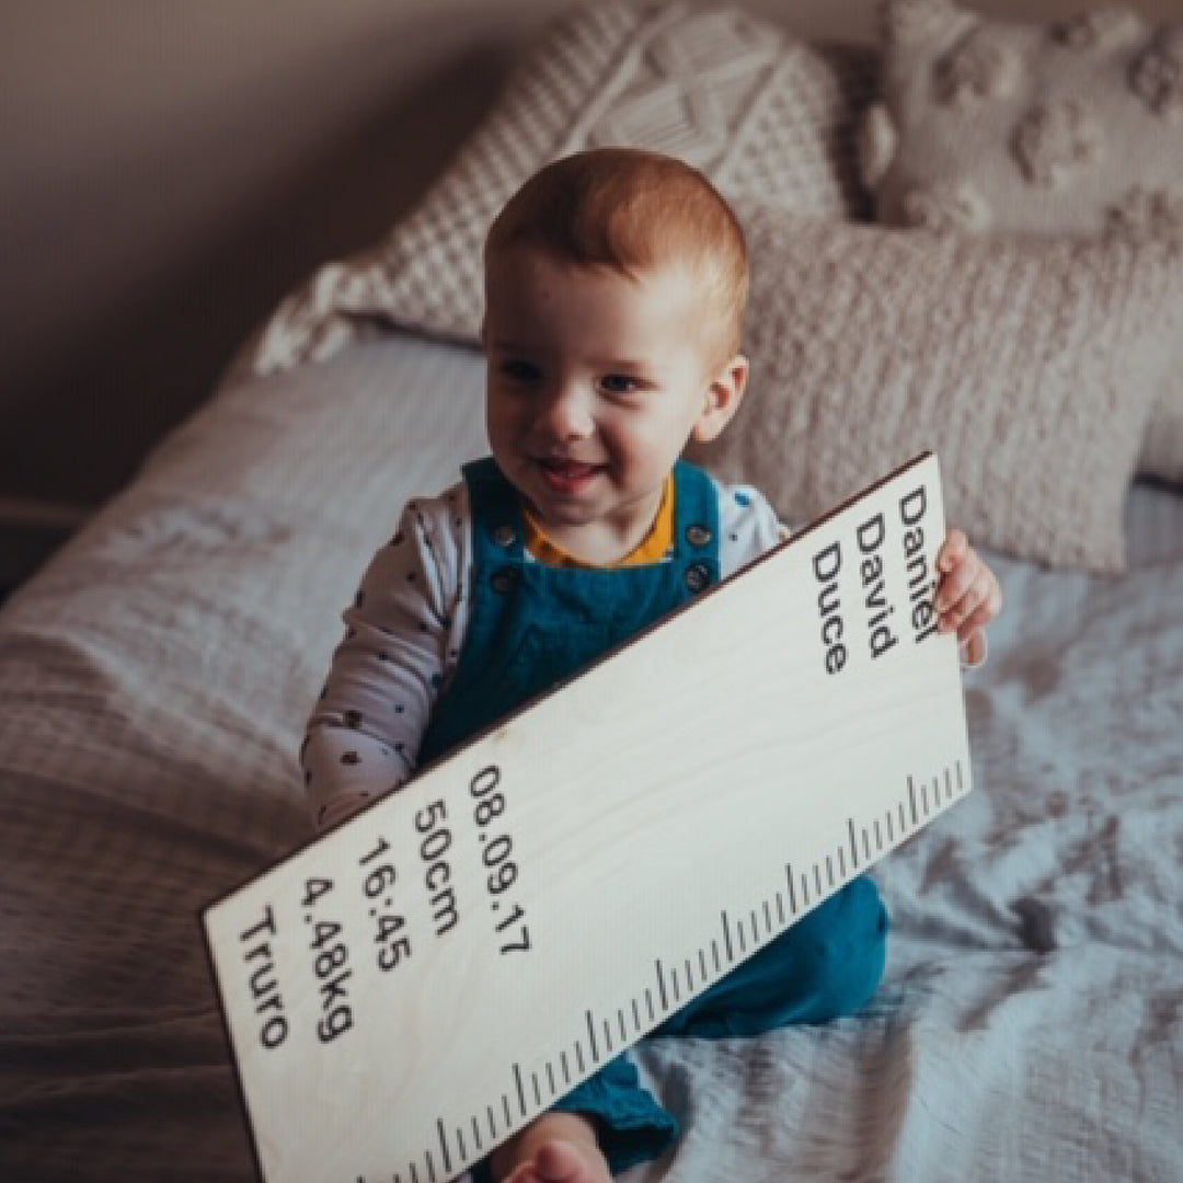
<svg viewBox="0 0 1183 1183"><path fill-rule="evenodd" d="M719 511L705 472L674 467L673 555L642 567L550 567L525 555L518 494L491 458L466 465L473 571L468 631L432 713L420 765L463 743L719 578ZM758 693L758 687L752 689ZM725 793L726 786L720 784ZM724 1039L858 1010L883 976L887 916L853 880L649 1035ZM612 1172L659 1157L679 1126L641 1087L627 1053L554 1106L595 1119ZM489 1161L474 1170L489 1179Z"/></svg>

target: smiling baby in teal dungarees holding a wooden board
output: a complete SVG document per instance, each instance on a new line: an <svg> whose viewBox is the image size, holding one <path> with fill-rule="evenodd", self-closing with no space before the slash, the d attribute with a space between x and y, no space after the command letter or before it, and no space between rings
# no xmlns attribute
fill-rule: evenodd
<svg viewBox="0 0 1183 1183"><path fill-rule="evenodd" d="M543 168L485 244L492 455L411 502L345 614L302 749L322 827L774 547L750 486L679 459L744 394L743 232L698 172L601 149ZM868 477L878 473L868 473ZM984 658L997 580L959 530L938 554L940 628ZM860 877L657 1028L755 1035L859 1009L887 917ZM499 1146L478 1178L605 1183L678 1124L618 1056Z"/></svg>

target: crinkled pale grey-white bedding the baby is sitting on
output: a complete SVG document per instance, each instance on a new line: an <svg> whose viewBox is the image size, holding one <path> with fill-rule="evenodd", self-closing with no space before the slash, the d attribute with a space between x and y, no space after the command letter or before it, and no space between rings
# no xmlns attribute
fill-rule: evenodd
<svg viewBox="0 0 1183 1183"><path fill-rule="evenodd" d="M340 613L481 383L393 337L233 387L0 610L0 1179L252 1177L196 910L306 836ZM687 1133L631 1178L1183 1179L1183 496L1127 529L1120 577L994 556L976 791L879 865L879 995L644 1045Z"/></svg>

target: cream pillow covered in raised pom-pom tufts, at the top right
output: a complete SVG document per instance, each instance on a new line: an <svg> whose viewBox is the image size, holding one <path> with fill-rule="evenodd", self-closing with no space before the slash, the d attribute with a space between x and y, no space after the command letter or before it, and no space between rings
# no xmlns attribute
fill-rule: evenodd
<svg viewBox="0 0 1183 1183"><path fill-rule="evenodd" d="M1183 239L1183 20L1101 6L1051 25L883 5L861 129L877 215L930 230ZM1183 344L1139 471L1183 480Z"/></svg>

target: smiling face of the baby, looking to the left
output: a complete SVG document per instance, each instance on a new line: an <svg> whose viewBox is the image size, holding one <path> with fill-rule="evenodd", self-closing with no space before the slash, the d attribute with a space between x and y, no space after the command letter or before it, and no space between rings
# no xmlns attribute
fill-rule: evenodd
<svg viewBox="0 0 1183 1183"><path fill-rule="evenodd" d="M718 335L699 285L678 266L633 280L517 247L493 261L487 296L502 472L573 552L635 544L690 435L711 438L733 411L717 406Z"/></svg>

